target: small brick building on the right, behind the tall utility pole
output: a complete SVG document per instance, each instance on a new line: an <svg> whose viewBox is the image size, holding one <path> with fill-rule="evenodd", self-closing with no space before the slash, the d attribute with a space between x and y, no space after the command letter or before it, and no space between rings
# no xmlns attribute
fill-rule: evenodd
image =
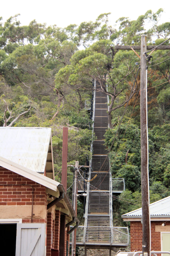
<svg viewBox="0 0 170 256"><path fill-rule="evenodd" d="M150 204L151 250L170 250L170 196ZM142 251L142 208L122 215L130 221L131 251Z"/></svg>

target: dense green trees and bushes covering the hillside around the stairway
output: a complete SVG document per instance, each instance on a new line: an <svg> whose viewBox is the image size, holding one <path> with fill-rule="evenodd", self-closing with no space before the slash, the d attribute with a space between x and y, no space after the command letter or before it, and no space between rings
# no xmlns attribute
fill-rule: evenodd
<svg viewBox="0 0 170 256"><path fill-rule="evenodd" d="M66 28L47 27L36 20L21 26L18 15L0 24L0 126L51 127L55 179L59 182L63 126L69 127L68 163L79 161L85 165L86 156L90 158L92 122L84 107L85 100L91 99L92 80L98 80L100 90L109 95L110 128L105 134L108 148L130 95L110 152L112 175L125 178L126 184L124 193L113 200L115 225L123 225L121 214L141 205L140 71L135 65L139 59L133 51L115 50L115 44L119 40L120 44L131 45L134 40L135 45L140 45L142 34L147 34L148 45L152 45L152 40L156 45L165 41L170 23L158 25L162 12L148 10L133 21L121 17L115 26L109 25L109 13L101 14L95 22L70 24ZM153 63L148 67L151 202L170 195L169 50L156 50L152 56ZM108 91L102 85L104 78ZM72 182L70 168L68 187ZM81 214L81 202L78 210Z"/></svg>

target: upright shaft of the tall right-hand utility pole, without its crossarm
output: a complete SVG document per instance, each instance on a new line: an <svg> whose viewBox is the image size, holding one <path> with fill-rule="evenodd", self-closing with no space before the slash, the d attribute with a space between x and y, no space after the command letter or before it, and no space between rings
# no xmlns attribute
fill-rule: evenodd
<svg viewBox="0 0 170 256"><path fill-rule="evenodd" d="M148 155L147 155L147 113L146 113L146 56L147 36L141 35L140 55L140 135L141 135L141 190L142 190L142 254L150 255L150 216L149 216L149 180L148 180Z"/></svg>

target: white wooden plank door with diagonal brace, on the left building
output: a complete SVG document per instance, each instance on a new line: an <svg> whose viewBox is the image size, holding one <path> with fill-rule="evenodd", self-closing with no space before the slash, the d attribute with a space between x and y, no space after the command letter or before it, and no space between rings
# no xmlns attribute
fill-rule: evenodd
<svg viewBox="0 0 170 256"><path fill-rule="evenodd" d="M45 223L17 223L15 256L44 256Z"/></svg>

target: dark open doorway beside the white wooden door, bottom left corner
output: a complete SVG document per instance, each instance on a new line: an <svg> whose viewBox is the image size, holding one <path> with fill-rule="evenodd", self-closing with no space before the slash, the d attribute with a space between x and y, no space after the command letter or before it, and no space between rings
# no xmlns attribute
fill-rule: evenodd
<svg viewBox="0 0 170 256"><path fill-rule="evenodd" d="M1 255L15 256L17 223L0 223Z"/></svg>

